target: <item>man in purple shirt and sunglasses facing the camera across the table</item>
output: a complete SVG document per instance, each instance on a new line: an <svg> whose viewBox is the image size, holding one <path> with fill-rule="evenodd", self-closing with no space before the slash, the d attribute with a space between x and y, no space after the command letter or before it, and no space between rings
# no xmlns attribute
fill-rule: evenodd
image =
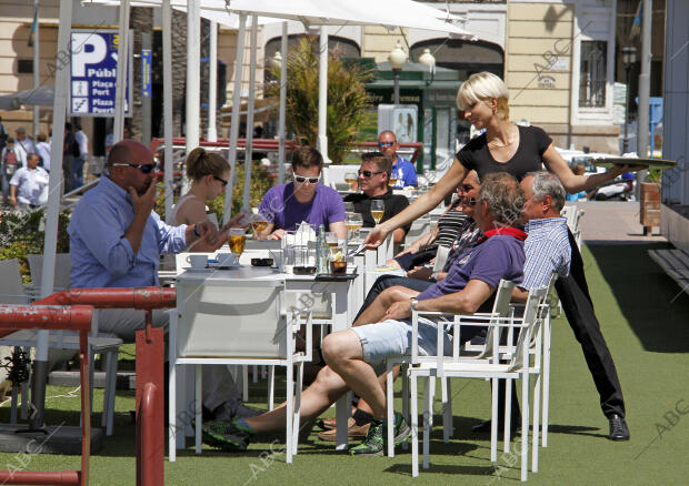
<svg viewBox="0 0 689 486"><path fill-rule="evenodd" d="M303 221L316 229L326 225L338 237L347 237L347 215L340 194L318 182L323 166L321 154L310 146L292 152L293 182L271 188L261 201L259 212L268 217L262 236L280 240Z"/></svg>

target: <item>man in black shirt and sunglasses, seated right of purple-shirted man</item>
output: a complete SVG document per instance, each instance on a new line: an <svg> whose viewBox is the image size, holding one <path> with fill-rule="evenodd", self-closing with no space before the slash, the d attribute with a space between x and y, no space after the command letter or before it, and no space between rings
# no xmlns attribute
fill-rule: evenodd
<svg viewBox="0 0 689 486"><path fill-rule="evenodd" d="M373 227L377 224L371 214L372 201L383 202L385 212L380 222L388 221L409 205L409 200L406 196L393 194L392 188L388 186L392 162L387 155L379 152L361 154L361 168L359 169L361 193L349 194L344 201L355 203L355 211L361 214L363 227ZM410 227L411 224L395 230L395 243L401 243Z"/></svg>

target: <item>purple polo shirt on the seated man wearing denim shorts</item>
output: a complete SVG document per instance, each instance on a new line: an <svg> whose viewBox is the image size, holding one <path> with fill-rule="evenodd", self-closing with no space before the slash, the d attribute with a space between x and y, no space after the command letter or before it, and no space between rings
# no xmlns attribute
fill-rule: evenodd
<svg viewBox="0 0 689 486"><path fill-rule="evenodd" d="M501 279L520 283L523 277L523 242L497 234L457 257L448 275L421 292L417 300L440 297L462 291L470 280L480 280L493 288Z"/></svg>

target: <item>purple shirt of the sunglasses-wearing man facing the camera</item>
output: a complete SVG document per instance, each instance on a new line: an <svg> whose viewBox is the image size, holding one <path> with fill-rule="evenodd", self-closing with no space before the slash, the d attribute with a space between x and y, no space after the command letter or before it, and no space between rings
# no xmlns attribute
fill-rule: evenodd
<svg viewBox="0 0 689 486"><path fill-rule="evenodd" d="M294 198L294 183L271 188L261 201L259 212L268 217L273 230L293 231L297 224L306 221L318 227L347 220L344 203L340 194L327 185L318 184L316 195L306 204Z"/></svg>

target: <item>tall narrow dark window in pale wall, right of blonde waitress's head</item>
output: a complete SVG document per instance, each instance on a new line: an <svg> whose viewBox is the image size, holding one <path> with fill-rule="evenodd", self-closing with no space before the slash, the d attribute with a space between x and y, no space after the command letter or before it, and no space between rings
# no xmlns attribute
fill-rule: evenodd
<svg viewBox="0 0 689 486"><path fill-rule="evenodd" d="M606 105L608 42L581 41L579 107Z"/></svg>

